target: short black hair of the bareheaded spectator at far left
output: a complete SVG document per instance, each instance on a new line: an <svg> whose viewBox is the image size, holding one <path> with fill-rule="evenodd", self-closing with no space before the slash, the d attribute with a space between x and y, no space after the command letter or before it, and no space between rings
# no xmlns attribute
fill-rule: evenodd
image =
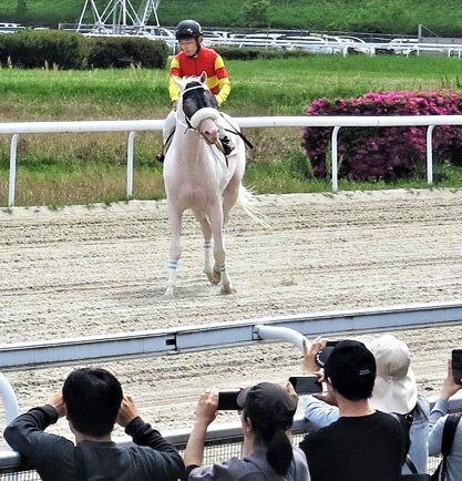
<svg viewBox="0 0 462 481"><path fill-rule="evenodd" d="M83 368L71 372L62 389L68 419L84 434L101 438L114 428L122 402L122 387L105 369Z"/></svg>

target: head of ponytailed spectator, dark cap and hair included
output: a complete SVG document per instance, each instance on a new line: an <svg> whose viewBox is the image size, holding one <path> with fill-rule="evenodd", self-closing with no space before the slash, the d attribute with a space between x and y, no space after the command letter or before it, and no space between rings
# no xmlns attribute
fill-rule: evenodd
<svg viewBox="0 0 462 481"><path fill-rule="evenodd" d="M286 430L292 424L296 401L280 386L260 382L243 391L240 402L244 417L251 422L255 442L266 448L269 465L279 475L286 474L294 458Z"/></svg>

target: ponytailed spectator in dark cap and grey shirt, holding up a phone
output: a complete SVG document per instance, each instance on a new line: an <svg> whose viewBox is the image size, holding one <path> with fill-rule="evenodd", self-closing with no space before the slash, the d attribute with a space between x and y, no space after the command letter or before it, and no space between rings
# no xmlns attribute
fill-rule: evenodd
<svg viewBox="0 0 462 481"><path fill-rule="evenodd" d="M260 382L243 389L237 405L242 409L244 457L202 465L207 427L217 416L218 391L201 396L184 454L188 481L250 478L276 481L283 477L286 481L309 481L305 456L291 446L290 429L297 410L295 393L273 382Z"/></svg>

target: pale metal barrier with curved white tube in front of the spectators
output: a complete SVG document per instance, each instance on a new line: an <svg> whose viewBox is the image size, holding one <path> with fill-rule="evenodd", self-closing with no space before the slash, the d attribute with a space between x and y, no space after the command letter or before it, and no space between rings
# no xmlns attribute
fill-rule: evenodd
<svg viewBox="0 0 462 481"><path fill-rule="evenodd" d="M0 345L0 371L78 362L107 362L126 358L220 349L286 340L299 349L305 336L352 336L461 324L462 304L433 303L267 317L165 330L153 329L115 335ZM0 397L7 422L18 416L18 401L0 372Z"/></svg>

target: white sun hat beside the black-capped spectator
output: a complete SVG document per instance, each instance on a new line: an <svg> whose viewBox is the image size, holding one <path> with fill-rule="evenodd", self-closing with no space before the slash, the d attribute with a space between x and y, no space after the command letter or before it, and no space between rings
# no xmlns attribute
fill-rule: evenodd
<svg viewBox="0 0 462 481"><path fill-rule="evenodd" d="M377 377L370 405L383 412L405 415L417 405L415 376L405 342L391 335L368 342L377 362Z"/></svg>

